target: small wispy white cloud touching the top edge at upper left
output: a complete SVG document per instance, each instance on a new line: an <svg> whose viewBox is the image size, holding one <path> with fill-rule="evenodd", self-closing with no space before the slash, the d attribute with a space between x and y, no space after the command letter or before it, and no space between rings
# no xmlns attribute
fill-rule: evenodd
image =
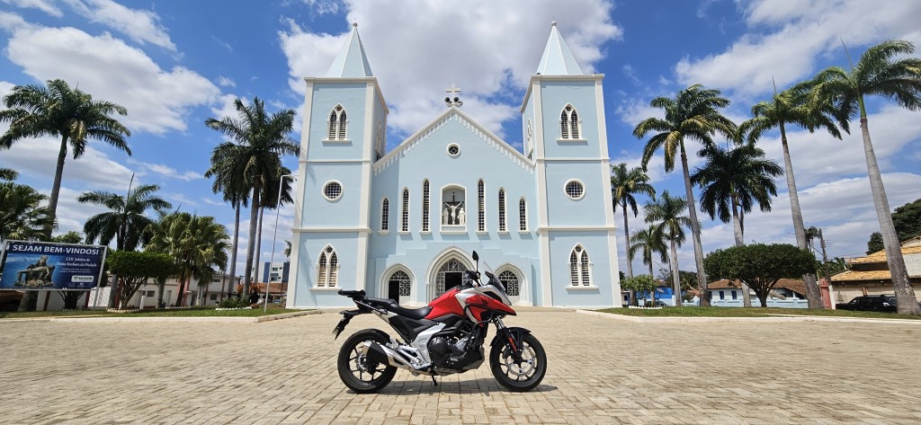
<svg viewBox="0 0 921 425"><path fill-rule="evenodd" d="M116 29L134 42L150 43L176 51L176 45L169 40L169 34L160 25L160 17L152 11L131 9L111 0L64 0L64 3L90 22Z"/></svg>

